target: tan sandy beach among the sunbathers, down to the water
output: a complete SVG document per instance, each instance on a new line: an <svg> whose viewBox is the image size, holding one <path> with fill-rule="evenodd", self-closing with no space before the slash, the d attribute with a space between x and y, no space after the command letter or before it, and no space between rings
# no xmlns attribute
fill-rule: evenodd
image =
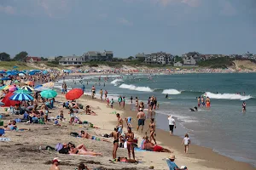
<svg viewBox="0 0 256 170"><path fill-rule="evenodd" d="M55 109L50 110L49 116L57 116L60 111L64 111L64 116L67 121L60 122L61 127L54 126L53 122L47 122L44 125L41 124L28 124L18 123L18 127L30 128L30 131L22 132L6 132L4 137L9 138L10 141L0 142L1 150L1 169L48 169L50 161L54 157L61 159L61 169L74 169L79 165L79 162L84 161L88 167L102 167L102 169L148 169L150 166L154 166L154 169L168 169L165 158L169 156L168 153L158 153L150 151L136 151L136 159L139 161L138 164L128 164L109 161L112 159L113 150L113 139L108 139L110 142L96 141L91 139L74 138L70 136L70 133L79 133L81 130L86 130L83 125L69 125L69 116L67 109L62 109L61 102L66 101L63 94L59 94L56 97ZM92 110L96 112L97 116L81 115L79 118L83 121L92 122L96 128L89 128L88 133L95 136L100 136L105 133L111 133L113 127L117 124L117 118L114 114L110 114L113 111L120 113L121 117L125 119L127 116L133 117L133 127L136 127L136 115L135 111L130 111L130 106L127 105L125 111L119 110L118 105L114 105L114 109L107 107L105 101L99 99L90 99L89 96L84 96L78 100L83 105L90 105ZM1 108L2 115L6 114ZM22 116L5 116L3 118L4 124L9 120ZM146 122L146 127L148 127ZM157 122L156 122L157 123ZM124 131L126 126L124 127ZM136 137L139 139L140 144L143 133L134 132ZM176 163L180 167L185 165L189 169L219 169L219 170L238 170L247 169L253 170L247 163L233 161L232 159L220 156L213 152L211 149L207 149L201 146L191 144L189 154L183 154L183 146L181 145L182 139L177 136L169 136L168 132L157 129L157 143L169 148L174 151L174 155L177 157ZM49 145L55 147L57 143L68 143L73 144L85 144L89 150L101 152L102 156L70 156L59 154L55 151L39 150L39 146L44 148ZM127 150L119 148L117 156L127 156Z"/></svg>

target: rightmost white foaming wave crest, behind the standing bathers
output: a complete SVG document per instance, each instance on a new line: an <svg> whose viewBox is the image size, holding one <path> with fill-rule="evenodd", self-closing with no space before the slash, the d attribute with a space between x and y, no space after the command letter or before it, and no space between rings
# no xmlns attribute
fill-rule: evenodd
<svg viewBox="0 0 256 170"><path fill-rule="evenodd" d="M211 92L206 92L206 96L210 99L240 99L240 100L247 100L251 99L252 96L246 95L243 96L241 94L212 94Z"/></svg>

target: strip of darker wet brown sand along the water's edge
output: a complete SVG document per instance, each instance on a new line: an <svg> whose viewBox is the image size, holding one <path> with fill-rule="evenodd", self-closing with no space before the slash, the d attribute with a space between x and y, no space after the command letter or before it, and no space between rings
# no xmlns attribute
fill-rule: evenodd
<svg viewBox="0 0 256 170"><path fill-rule="evenodd" d="M89 99L89 100L96 100L97 102L105 103L104 100L102 102L101 99L91 99L90 96L86 95L84 96L84 99ZM107 105L107 104L106 104ZM136 111L131 111L127 108L131 108L130 104L126 104L125 110L119 109L119 106L117 104L114 105L114 109L117 111L122 111L124 112L123 114L120 114L122 118L124 119L125 117L131 116L133 121L132 121L132 127L137 127L137 113ZM157 120L156 124L157 124ZM113 125L114 121L112 122ZM143 131L148 129L148 123L149 119L145 121L145 126ZM167 125L166 125L167 126ZM125 127L124 127L125 128ZM140 136L140 138L143 137L144 133L137 133L137 131L133 131L137 135ZM200 146L197 144L190 144L189 147L189 154L183 154L183 146L181 145L182 143L182 138L179 136L170 136L169 132L162 130L160 128L156 128L156 140L160 145L163 145L164 147L167 147L169 149L174 150L174 155L181 155L189 159L196 159L198 160L198 163L207 168L213 168L213 169L232 169L232 170L240 170L240 169L247 169L247 170L254 170L256 167L253 167L251 164L243 161L236 161L228 156L223 156L219 154L218 152L215 152L212 148L207 148L204 146ZM192 141L193 142L193 141ZM170 144L172 143L172 144ZM140 144L140 143L138 143ZM179 160L180 161L180 160ZM186 165L188 168L188 164L184 161L182 161L182 165ZM191 169L191 167L189 168Z"/></svg>

